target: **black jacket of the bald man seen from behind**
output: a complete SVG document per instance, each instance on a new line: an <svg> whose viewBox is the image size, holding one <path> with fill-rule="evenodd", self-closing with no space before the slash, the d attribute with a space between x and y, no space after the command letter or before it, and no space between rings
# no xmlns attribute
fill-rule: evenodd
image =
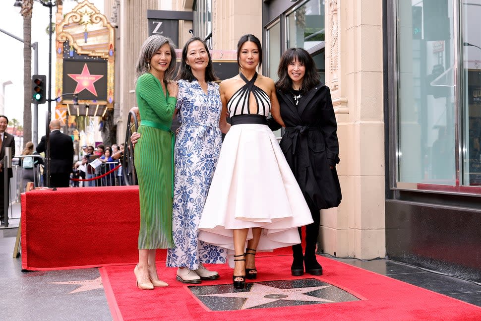
<svg viewBox="0 0 481 321"><path fill-rule="evenodd" d="M52 174L70 173L73 165L73 141L72 137L54 130L50 133L50 172ZM37 145L37 152L47 149L47 139L43 136Z"/></svg>

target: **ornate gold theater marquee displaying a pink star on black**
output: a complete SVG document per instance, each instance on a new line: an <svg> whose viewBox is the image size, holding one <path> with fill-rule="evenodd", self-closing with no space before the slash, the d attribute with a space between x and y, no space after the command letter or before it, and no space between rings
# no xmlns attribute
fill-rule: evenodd
<svg viewBox="0 0 481 321"><path fill-rule="evenodd" d="M87 0L57 24L57 109L102 116L114 108L114 30Z"/></svg>

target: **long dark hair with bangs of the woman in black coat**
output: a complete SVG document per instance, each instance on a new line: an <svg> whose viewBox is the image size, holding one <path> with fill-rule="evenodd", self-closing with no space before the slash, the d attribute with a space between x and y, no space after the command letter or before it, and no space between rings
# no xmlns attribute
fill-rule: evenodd
<svg viewBox="0 0 481 321"><path fill-rule="evenodd" d="M302 48L289 48L282 54L279 69L277 70L279 79L276 81L276 88L282 92L292 90L292 79L287 73L287 66L296 59L305 67L301 92L305 93L319 83L316 64L309 53Z"/></svg>

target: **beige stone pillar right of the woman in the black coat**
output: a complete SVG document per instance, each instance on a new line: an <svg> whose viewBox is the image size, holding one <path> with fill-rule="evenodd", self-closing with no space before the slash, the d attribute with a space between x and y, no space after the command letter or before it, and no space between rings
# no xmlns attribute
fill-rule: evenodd
<svg viewBox="0 0 481 321"><path fill-rule="evenodd" d="M325 8L343 201L322 211L319 242L338 257L384 257L382 1L329 0Z"/></svg>

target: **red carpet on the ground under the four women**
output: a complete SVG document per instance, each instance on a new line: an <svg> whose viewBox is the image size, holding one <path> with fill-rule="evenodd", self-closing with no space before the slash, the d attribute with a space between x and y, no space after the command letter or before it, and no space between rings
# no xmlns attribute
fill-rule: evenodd
<svg viewBox="0 0 481 321"><path fill-rule="evenodd" d="M318 257L324 275L315 277L358 297L359 301L324 303L241 311L207 310L184 285L175 280L175 268L158 263L159 275L170 285L154 290L135 287L134 265L102 267L101 275L114 320L237 321L480 321L481 308L383 275ZM311 278L290 275L290 256L260 256L256 260L260 281ZM220 279L202 285L230 283L227 265L209 265Z"/></svg>

